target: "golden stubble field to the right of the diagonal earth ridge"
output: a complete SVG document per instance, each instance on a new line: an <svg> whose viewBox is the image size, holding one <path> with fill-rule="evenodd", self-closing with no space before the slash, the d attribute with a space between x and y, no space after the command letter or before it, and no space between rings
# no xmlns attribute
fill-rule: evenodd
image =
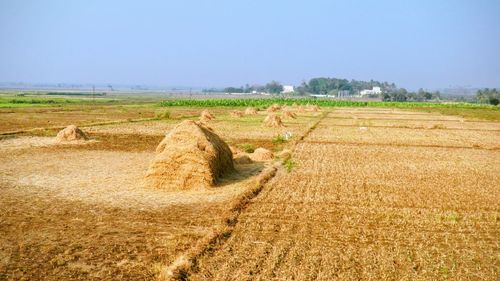
<svg viewBox="0 0 500 281"><path fill-rule="evenodd" d="M379 111L350 114L389 110ZM279 171L189 279L495 280L498 132L346 130L335 125L339 114L296 145L297 167Z"/></svg>

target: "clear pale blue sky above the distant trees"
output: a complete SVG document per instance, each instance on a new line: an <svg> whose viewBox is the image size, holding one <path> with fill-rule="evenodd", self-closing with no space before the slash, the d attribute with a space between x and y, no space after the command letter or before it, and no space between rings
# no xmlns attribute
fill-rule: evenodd
<svg viewBox="0 0 500 281"><path fill-rule="evenodd" d="M0 0L0 81L500 87L500 1Z"/></svg>

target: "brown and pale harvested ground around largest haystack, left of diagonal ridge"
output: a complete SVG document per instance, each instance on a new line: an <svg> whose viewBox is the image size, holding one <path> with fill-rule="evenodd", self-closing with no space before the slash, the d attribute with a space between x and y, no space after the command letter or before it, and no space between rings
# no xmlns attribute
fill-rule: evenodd
<svg viewBox="0 0 500 281"><path fill-rule="evenodd" d="M144 186L152 157L60 147L2 154L0 279L152 279L217 227L223 202L263 168L237 167L204 192L166 194Z"/></svg>

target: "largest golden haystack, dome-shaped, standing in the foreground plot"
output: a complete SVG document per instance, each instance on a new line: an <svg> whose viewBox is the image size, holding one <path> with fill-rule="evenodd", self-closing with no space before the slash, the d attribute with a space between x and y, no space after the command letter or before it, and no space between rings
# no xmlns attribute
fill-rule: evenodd
<svg viewBox="0 0 500 281"><path fill-rule="evenodd" d="M156 148L146 174L150 186L169 191L203 189L234 170L229 146L203 124L183 121Z"/></svg>

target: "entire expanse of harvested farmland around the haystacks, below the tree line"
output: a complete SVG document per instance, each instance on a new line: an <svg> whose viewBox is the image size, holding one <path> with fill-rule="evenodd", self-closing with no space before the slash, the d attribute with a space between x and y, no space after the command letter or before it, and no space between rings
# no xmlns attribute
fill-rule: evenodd
<svg viewBox="0 0 500 281"><path fill-rule="evenodd" d="M497 279L498 109L319 104L265 127L276 102L0 108L0 280ZM206 108L233 149L291 159L147 186L165 134ZM55 141L69 124L89 140Z"/></svg>

